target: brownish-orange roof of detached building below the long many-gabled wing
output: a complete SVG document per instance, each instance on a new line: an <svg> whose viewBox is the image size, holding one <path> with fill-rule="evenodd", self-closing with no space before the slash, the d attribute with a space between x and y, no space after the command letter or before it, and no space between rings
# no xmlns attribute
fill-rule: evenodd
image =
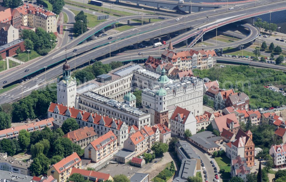
<svg viewBox="0 0 286 182"><path fill-rule="evenodd" d="M93 127L85 126L83 128L68 132L63 137L69 138L72 142L75 142L95 135L97 135L97 133L94 131Z"/></svg>

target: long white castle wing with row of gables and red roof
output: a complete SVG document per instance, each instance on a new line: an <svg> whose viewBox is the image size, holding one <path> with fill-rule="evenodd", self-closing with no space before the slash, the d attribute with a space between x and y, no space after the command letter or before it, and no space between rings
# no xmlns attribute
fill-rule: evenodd
<svg viewBox="0 0 286 182"><path fill-rule="evenodd" d="M51 103L48 109L48 117L54 117L59 125L67 118L74 118L80 127L93 127L98 136L112 131L117 137L117 145L122 146L130 132L138 130L135 125L128 126L120 118L111 118L108 115L90 113L75 108L63 106L62 104ZM135 129L134 129L135 128Z"/></svg>

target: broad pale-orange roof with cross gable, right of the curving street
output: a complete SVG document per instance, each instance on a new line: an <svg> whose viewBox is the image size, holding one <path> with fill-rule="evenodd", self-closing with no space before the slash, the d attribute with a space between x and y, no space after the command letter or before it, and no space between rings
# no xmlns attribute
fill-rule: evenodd
<svg viewBox="0 0 286 182"><path fill-rule="evenodd" d="M217 124L217 127L219 128L220 132L223 131L223 128L229 130L227 123L230 123L231 121L234 122L234 128L239 127L239 122L237 121L237 118L234 113L215 118L214 121Z"/></svg>

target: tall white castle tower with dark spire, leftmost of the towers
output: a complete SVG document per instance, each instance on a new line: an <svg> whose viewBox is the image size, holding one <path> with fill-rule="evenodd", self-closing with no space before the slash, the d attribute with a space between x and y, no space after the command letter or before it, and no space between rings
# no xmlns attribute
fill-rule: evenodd
<svg viewBox="0 0 286 182"><path fill-rule="evenodd" d="M76 100L76 78L71 78L71 68L65 59L63 76L57 79L57 103L74 107Z"/></svg>

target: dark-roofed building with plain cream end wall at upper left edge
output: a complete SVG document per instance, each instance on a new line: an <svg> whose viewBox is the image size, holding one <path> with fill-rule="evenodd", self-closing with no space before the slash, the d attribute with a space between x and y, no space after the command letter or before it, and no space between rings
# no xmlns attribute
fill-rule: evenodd
<svg viewBox="0 0 286 182"><path fill-rule="evenodd" d="M19 29L9 23L0 23L0 46L19 39Z"/></svg>

